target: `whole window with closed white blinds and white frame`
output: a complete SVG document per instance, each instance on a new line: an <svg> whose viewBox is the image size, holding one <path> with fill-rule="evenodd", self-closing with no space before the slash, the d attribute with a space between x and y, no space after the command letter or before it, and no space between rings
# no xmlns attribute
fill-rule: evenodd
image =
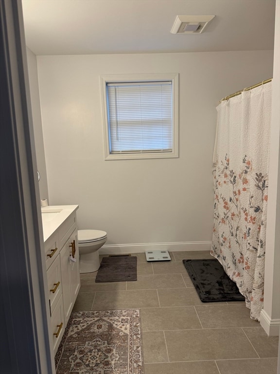
<svg viewBox="0 0 280 374"><path fill-rule="evenodd" d="M178 157L178 74L101 76L105 160Z"/></svg>

